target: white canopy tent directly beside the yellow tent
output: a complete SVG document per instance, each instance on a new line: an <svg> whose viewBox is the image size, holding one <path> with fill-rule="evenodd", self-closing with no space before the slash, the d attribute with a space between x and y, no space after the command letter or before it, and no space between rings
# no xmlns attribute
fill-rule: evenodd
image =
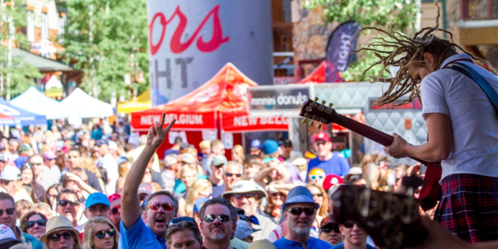
<svg viewBox="0 0 498 249"><path fill-rule="evenodd" d="M93 98L80 88L76 88L68 97L61 101L61 104L77 110L77 113L79 113L77 116L82 119L104 118L114 115L111 104Z"/></svg>

